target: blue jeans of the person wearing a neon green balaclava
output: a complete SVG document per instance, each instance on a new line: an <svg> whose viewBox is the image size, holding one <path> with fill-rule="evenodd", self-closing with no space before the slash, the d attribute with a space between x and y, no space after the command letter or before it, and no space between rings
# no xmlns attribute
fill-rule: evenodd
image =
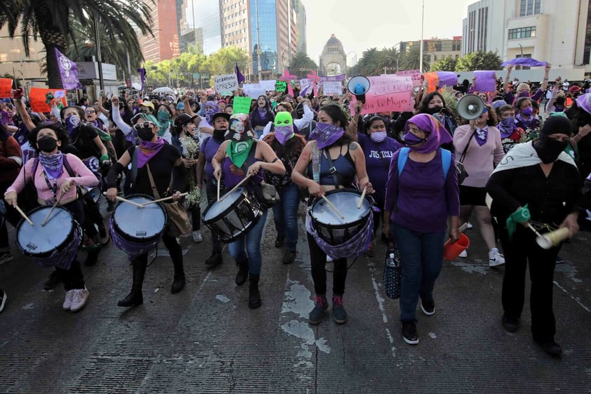
<svg viewBox="0 0 591 394"><path fill-rule="evenodd" d="M277 189L281 201L273 206L273 220L277 236L286 236L286 249L295 251L298 244L298 208L300 190L295 183L287 188Z"/></svg>

